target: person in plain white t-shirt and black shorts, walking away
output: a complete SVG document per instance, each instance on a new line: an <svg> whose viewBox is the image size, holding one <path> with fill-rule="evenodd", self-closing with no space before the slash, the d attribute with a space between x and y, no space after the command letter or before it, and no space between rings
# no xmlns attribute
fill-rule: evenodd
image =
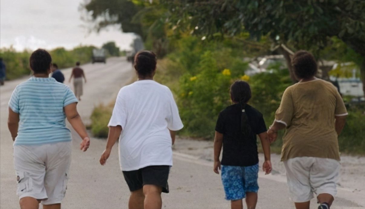
<svg viewBox="0 0 365 209"><path fill-rule="evenodd" d="M109 122L104 165L119 137L119 161L131 191L128 208L161 208L161 193L169 193L175 131L183 128L170 89L153 80L157 58L153 52L135 56L138 81L118 93ZM123 131L122 131L123 130Z"/></svg>

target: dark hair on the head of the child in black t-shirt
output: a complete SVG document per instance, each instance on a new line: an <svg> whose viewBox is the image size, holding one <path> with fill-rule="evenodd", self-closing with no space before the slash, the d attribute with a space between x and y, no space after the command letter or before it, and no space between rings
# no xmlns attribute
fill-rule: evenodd
<svg viewBox="0 0 365 209"><path fill-rule="evenodd" d="M235 81L231 85L230 93L231 93L233 102L239 102L242 104L246 104L251 99L250 85L243 80Z"/></svg>

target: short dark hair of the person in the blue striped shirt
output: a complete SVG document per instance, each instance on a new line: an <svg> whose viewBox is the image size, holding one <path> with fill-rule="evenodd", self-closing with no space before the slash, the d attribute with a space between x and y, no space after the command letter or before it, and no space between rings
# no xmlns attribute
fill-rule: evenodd
<svg viewBox="0 0 365 209"><path fill-rule="evenodd" d="M47 73L51 62L51 55L44 49L35 50L29 57L29 65L34 73Z"/></svg>

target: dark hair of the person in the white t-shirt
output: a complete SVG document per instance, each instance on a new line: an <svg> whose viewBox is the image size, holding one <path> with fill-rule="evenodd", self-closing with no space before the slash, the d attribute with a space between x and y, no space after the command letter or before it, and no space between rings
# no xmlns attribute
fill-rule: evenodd
<svg viewBox="0 0 365 209"><path fill-rule="evenodd" d="M134 69L138 76L150 76L156 69L157 57L152 51L140 51L134 57Z"/></svg>

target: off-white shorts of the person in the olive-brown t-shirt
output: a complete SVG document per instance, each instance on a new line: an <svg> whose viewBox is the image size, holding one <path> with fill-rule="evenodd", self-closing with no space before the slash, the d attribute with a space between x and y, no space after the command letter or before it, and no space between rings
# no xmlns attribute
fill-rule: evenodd
<svg viewBox="0 0 365 209"><path fill-rule="evenodd" d="M340 163L320 157L295 157L284 161L289 192L294 202L308 202L315 193L337 194Z"/></svg>

